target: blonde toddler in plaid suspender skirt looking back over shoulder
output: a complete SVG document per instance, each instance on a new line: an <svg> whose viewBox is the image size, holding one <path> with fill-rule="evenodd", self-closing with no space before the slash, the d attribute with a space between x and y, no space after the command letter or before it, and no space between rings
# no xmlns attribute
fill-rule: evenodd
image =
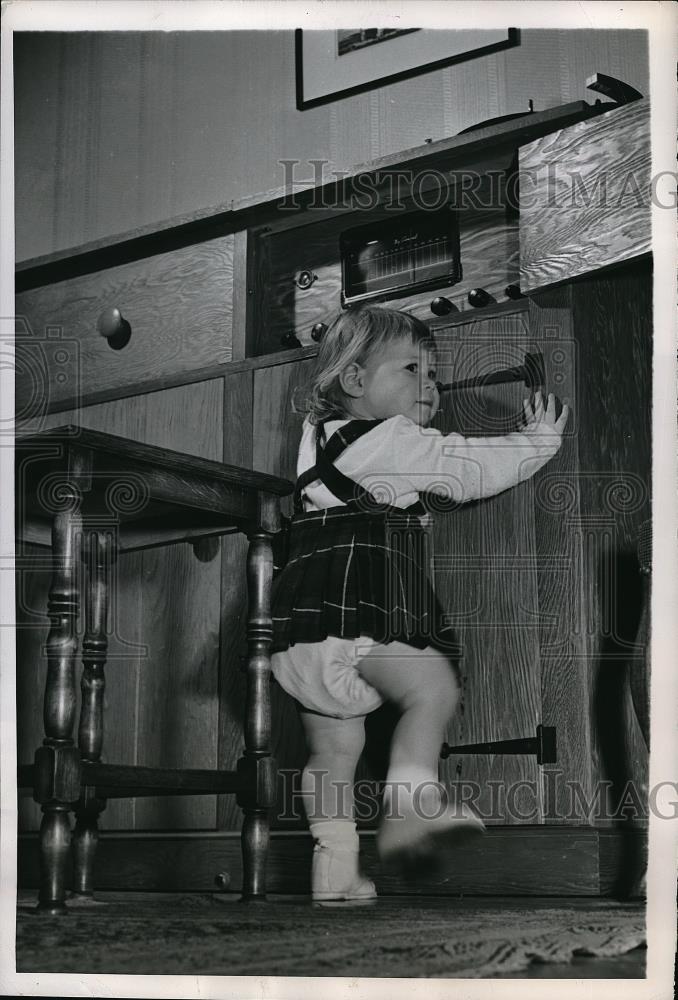
<svg viewBox="0 0 678 1000"><path fill-rule="evenodd" d="M524 426L464 438L429 427L439 405L435 344L407 313L342 312L328 327L307 400L289 558L274 584L272 670L296 699L309 759L301 793L314 839L314 900L376 895L358 862L352 789L365 716L395 728L377 850L407 870L483 832L438 783L458 699L459 649L428 569L431 506L493 496L558 450L568 418L540 393Z"/></svg>

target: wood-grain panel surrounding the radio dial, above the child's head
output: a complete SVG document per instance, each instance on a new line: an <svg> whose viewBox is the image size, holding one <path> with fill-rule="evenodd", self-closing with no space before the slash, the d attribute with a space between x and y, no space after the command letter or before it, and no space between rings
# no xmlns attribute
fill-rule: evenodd
<svg viewBox="0 0 678 1000"><path fill-rule="evenodd" d="M488 198L490 193L487 192ZM460 196L461 197L461 196ZM480 194L478 198L482 200ZM496 199L496 195L495 195ZM424 320L430 320L431 300L443 295L459 310L469 310L467 295L471 288L482 287L497 301L504 301L504 289L519 279L518 224L503 209L460 211L460 249L463 279L454 286L418 292L414 295L387 300L384 304L405 309ZM370 219L384 215L370 212ZM260 237L266 244L270 267L267 292L268 313L262 318L265 331L255 353L280 349L281 338L293 330L304 346L311 346L311 328L327 322L328 316L341 308L341 258L339 238L352 226L364 224L365 214L345 214L331 221L305 225ZM262 267L261 262L259 269ZM309 289L299 289L295 276L302 270L317 275ZM263 302L259 308L263 308Z"/></svg>

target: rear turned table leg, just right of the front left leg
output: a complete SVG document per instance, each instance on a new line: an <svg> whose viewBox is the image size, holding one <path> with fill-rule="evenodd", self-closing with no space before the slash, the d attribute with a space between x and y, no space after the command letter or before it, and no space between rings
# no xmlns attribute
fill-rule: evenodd
<svg viewBox="0 0 678 1000"><path fill-rule="evenodd" d="M106 623L110 577L115 547L113 533L92 529L85 533L83 556L87 564L85 634L82 640L82 679L78 746L86 761L99 761L104 738L104 668L108 651ZM99 836L99 814L106 807L94 788L83 788L75 808L73 836L73 889L83 896L93 892L93 868Z"/></svg>

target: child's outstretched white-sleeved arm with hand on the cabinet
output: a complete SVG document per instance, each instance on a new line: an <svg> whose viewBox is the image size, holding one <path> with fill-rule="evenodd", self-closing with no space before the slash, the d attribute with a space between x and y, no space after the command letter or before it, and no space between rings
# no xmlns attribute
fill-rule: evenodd
<svg viewBox="0 0 678 1000"><path fill-rule="evenodd" d="M541 393L536 394L534 408L529 400L524 408L525 425L496 437L441 434L423 430L406 417L391 418L378 455L371 456L371 468L354 453L358 467L353 474L363 473L359 481L367 489L382 475L397 482L399 493L428 491L459 502L494 496L529 479L560 448L569 408L563 406L556 419L555 397L549 395L544 407ZM363 441L367 445L367 437L354 447Z"/></svg>

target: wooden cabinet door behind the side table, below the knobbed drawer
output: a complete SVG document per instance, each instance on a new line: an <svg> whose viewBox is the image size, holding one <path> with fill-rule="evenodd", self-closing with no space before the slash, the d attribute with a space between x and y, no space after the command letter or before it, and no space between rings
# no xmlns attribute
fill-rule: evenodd
<svg viewBox="0 0 678 1000"><path fill-rule="evenodd" d="M80 424L221 460L221 379L58 413L46 426ZM199 543L200 544L200 543ZM19 574L17 711L19 761L42 742L49 572ZM207 560L207 561L204 561ZM163 767L215 767L218 740L220 550L180 543L119 557L109 621L103 759ZM24 798L24 829L39 809ZM116 799L102 829L213 828L216 798Z"/></svg>

